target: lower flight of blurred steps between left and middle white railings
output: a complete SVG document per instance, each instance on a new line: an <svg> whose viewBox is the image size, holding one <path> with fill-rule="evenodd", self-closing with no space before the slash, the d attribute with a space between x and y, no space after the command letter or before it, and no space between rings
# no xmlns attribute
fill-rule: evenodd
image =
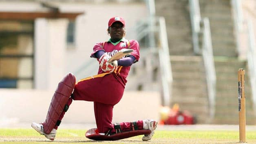
<svg viewBox="0 0 256 144"><path fill-rule="evenodd" d="M197 123L205 123L209 116L205 72L201 56L170 56L172 64L172 104L197 117Z"/></svg>

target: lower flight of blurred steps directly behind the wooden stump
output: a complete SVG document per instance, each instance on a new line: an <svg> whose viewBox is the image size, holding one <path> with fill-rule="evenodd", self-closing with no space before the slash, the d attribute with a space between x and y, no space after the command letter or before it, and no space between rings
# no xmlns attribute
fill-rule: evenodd
<svg viewBox="0 0 256 144"><path fill-rule="evenodd" d="M254 125L255 118L249 71L247 63L235 57L215 57L216 68L216 113L214 123L238 123L238 69L245 69L246 120L248 125ZM220 118L223 116L222 118ZM232 122L229 120L232 119Z"/></svg>

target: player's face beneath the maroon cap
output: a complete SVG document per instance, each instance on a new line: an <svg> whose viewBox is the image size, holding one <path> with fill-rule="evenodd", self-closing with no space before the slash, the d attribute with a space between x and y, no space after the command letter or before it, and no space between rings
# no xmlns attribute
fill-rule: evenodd
<svg viewBox="0 0 256 144"><path fill-rule="evenodd" d="M124 25L119 21L113 23L109 28L109 35L111 37L111 40L119 41L124 37L124 34L125 34Z"/></svg>

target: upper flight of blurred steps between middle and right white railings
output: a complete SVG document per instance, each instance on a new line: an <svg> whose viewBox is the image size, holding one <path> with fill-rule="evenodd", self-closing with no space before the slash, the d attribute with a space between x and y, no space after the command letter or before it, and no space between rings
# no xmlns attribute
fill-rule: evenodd
<svg viewBox="0 0 256 144"><path fill-rule="evenodd" d="M199 0L201 17L208 17L214 56L237 56L230 0Z"/></svg>

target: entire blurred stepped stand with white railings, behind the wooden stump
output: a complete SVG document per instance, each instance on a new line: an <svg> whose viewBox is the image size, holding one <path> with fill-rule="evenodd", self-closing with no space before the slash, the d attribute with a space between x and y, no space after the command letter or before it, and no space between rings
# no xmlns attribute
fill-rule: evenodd
<svg viewBox="0 0 256 144"><path fill-rule="evenodd" d="M238 124L238 69L245 69L247 124L256 118L255 0L156 0L166 19L171 105L198 123Z"/></svg>

